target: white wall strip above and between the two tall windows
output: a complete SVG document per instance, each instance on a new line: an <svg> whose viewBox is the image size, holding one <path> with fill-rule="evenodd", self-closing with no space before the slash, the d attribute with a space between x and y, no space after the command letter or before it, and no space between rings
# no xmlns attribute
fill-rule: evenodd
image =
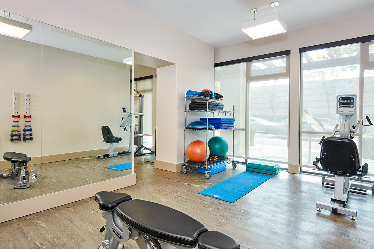
<svg viewBox="0 0 374 249"><path fill-rule="evenodd" d="M266 37L215 50L215 62L231 61L250 56L291 50L289 172L298 172L299 165L299 92L300 47L335 42L374 34L374 12L329 22L276 36Z"/></svg>

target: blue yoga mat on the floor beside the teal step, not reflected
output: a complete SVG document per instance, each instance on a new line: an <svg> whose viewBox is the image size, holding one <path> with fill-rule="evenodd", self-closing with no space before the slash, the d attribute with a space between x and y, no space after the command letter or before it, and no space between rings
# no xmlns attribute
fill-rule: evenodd
<svg viewBox="0 0 374 249"><path fill-rule="evenodd" d="M199 194L233 203L270 178L272 178L272 176L243 172L200 191Z"/></svg>

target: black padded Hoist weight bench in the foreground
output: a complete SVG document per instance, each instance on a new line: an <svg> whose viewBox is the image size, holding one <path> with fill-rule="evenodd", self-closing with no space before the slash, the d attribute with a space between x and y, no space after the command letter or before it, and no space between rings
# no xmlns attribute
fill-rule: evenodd
<svg viewBox="0 0 374 249"><path fill-rule="evenodd" d="M133 200L124 193L101 191L95 194L107 223L105 240L99 249L121 249L120 242L135 240L140 249L240 249L239 243L178 210Z"/></svg>

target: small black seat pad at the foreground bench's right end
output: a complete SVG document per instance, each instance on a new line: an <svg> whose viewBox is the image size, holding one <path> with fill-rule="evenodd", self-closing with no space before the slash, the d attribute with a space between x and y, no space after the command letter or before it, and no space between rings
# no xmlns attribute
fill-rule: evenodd
<svg viewBox="0 0 374 249"><path fill-rule="evenodd" d="M199 249L240 249L239 242L218 231L203 233L200 235L198 243Z"/></svg>

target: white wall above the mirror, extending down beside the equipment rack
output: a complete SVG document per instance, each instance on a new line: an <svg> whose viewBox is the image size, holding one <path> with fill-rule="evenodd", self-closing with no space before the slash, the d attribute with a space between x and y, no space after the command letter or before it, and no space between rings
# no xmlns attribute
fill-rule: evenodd
<svg viewBox="0 0 374 249"><path fill-rule="evenodd" d="M175 156L160 158L182 163L183 149L175 148L183 148L184 92L214 88L213 46L122 0L2 0L0 9L177 64L174 96L157 92L157 114L162 112L160 101L176 107L177 114L169 121L177 129L176 139L163 143L157 138L157 156L162 150L175 151ZM162 136L159 127L157 131L158 137Z"/></svg>

